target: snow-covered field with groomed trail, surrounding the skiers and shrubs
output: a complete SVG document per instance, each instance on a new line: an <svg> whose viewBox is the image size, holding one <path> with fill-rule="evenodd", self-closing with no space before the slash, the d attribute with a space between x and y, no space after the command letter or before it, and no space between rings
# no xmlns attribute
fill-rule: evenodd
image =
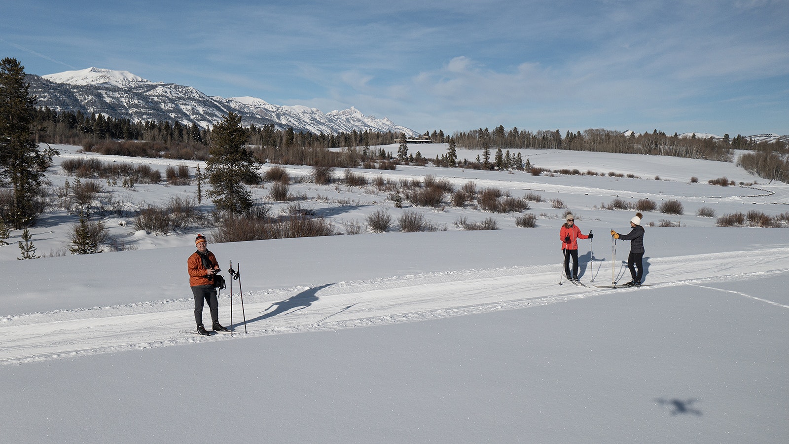
<svg viewBox="0 0 789 444"><path fill-rule="evenodd" d="M53 186L65 182L62 160L95 156L56 148ZM446 145L410 149L431 158ZM786 213L789 186L705 160L522 156L603 175L357 171L540 194L544 201L525 211L537 228L516 227L520 213L395 209L373 186L301 182L291 185L308 197L301 205L338 232L364 227L379 209L395 222L405 211L424 213L446 231L402 233L395 223L381 234L215 244L206 227L154 235L114 215L105 220L111 235L133 250L58 256L76 218L53 211L31 230L37 253L50 257L28 261L17 260L21 233L13 231L0 247L2 442L786 442L789 230L716 228L716 218L696 213ZM287 169L294 178L311 172ZM757 184L707 184L724 176ZM196 190L106 187L129 210ZM261 201L268 193L268 185L253 189ZM601 209L615 198L684 206L681 216L644 213L644 224L678 225L646 228L649 287L593 286L629 280L629 243L612 243L608 231L629 231L635 212ZM554 199L567 208L552 208ZM579 241L586 288L559 285L568 209L596 235ZM499 230L463 231L460 217L493 217ZM244 311L235 281L232 337L185 333L194 329L185 262L198 232L223 269L241 265ZM225 325L230 302L227 288Z"/></svg>

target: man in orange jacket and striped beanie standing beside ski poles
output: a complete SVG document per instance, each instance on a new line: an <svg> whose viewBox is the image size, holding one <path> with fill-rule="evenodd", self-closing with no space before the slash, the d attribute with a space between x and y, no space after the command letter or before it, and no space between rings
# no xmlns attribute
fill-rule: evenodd
<svg viewBox="0 0 789 444"><path fill-rule="evenodd" d="M226 327L219 324L219 301L216 297L215 277L219 269L219 262L216 256L208 251L208 243L204 235L197 235L195 239L197 251L195 251L186 261L189 270L189 286L195 296L195 321L197 322L197 333L208 335L208 331L203 326L203 304L208 301L208 309L211 311L211 322L214 331L227 331ZM220 276L221 277L221 276Z"/></svg>

